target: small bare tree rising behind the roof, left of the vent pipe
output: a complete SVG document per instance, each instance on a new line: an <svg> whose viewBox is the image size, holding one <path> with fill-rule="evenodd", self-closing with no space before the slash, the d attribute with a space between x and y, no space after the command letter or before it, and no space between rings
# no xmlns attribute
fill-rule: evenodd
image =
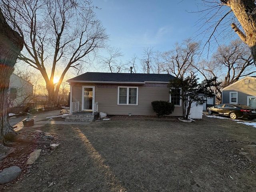
<svg viewBox="0 0 256 192"><path fill-rule="evenodd" d="M120 48L106 48L106 54L99 56L102 68L108 69L111 73L119 73L124 70L124 64L118 61L118 58L123 56Z"/></svg>

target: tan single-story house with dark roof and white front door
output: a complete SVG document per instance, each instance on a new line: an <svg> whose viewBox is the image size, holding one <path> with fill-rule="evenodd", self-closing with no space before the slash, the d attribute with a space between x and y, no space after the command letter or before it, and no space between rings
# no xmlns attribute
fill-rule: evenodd
<svg viewBox="0 0 256 192"><path fill-rule="evenodd" d="M78 111L112 115L156 115L151 102L164 100L175 104L172 116L182 116L182 102L171 97L167 87L170 74L134 74L87 72L67 80L70 84L70 108L79 102ZM72 110L72 109L70 109Z"/></svg>

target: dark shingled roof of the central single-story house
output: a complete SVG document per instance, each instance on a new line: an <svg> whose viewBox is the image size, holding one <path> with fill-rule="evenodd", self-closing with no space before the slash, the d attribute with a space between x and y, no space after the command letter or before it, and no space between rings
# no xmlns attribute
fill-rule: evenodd
<svg viewBox="0 0 256 192"><path fill-rule="evenodd" d="M67 80L68 82L169 82L174 79L170 74L141 74L141 73L98 73L87 72Z"/></svg>

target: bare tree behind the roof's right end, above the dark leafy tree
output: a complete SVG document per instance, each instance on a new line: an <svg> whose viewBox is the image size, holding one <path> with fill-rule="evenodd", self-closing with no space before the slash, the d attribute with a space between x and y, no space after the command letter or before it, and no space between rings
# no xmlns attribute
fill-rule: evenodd
<svg viewBox="0 0 256 192"><path fill-rule="evenodd" d="M194 70L197 62L200 44L186 39L182 44L176 43L173 50L162 54L164 64L163 71L177 78L188 76Z"/></svg>

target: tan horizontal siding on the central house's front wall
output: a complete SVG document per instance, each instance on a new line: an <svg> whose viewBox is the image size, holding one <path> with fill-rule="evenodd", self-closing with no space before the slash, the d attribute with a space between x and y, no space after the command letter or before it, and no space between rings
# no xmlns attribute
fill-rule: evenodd
<svg viewBox="0 0 256 192"><path fill-rule="evenodd" d="M170 100L169 89L166 84L76 84L73 86L72 101L82 104L82 86L95 86L95 102L98 102L98 111L107 114L120 115L156 115L152 110L154 100ZM138 87L138 105L118 105L118 86ZM182 116L182 107L176 106L172 116Z"/></svg>

